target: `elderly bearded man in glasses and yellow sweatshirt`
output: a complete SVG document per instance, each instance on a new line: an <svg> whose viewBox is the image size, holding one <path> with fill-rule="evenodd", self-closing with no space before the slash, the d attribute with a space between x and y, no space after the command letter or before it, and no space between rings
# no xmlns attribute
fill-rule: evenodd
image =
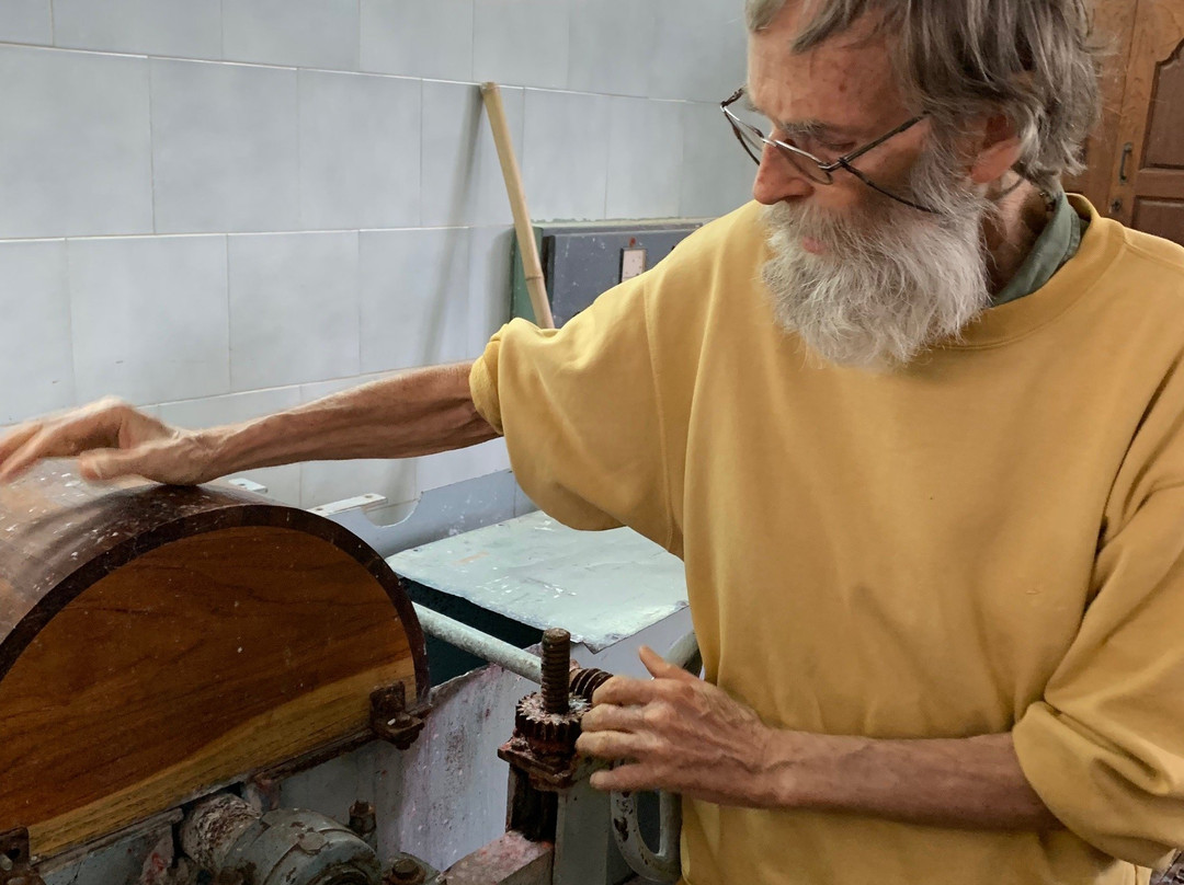
<svg viewBox="0 0 1184 885"><path fill-rule="evenodd" d="M1184 845L1184 251L1060 190L1096 104L1082 0L748 24L725 112L757 202L562 330L200 433L98 403L0 471L504 434L543 510L686 562L707 679L646 652L580 738L625 761L597 786L682 793L686 881L1145 878Z"/></svg>

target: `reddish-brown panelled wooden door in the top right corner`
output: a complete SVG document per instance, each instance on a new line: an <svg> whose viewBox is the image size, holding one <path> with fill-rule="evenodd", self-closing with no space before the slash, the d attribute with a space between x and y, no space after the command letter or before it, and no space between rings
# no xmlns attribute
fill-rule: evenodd
<svg viewBox="0 0 1184 885"><path fill-rule="evenodd" d="M1184 244L1184 0L1139 0L1109 214Z"/></svg>

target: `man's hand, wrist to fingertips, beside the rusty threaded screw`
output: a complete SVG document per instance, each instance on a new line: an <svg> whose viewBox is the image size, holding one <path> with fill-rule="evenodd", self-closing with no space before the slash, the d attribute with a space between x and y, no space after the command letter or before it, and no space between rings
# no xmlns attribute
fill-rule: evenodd
<svg viewBox="0 0 1184 885"><path fill-rule="evenodd" d="M613 677L592 698L577 749L629 760L592 775L604 790L663 789L721 805L776 805L766 777L773 730L722 689L664 661L650 648L654 679Z"/></svg>

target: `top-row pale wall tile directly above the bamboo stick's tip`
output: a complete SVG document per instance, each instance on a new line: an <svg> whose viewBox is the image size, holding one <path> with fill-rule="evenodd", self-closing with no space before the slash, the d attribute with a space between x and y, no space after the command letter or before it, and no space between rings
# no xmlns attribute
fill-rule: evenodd
<svg viewBox="0 0 1184 885"><path fill-rule="evenodd" d="M555 0L480 0L474 17L472 78L565 89L568 6Z"/></svg>

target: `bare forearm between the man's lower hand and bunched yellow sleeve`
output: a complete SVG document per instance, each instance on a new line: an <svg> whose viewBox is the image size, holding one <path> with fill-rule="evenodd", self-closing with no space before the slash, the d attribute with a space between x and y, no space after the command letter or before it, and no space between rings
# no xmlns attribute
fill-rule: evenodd
<svg viewBox="0 0 1184 885"><path fill-rule="evenodd" d="M1054 829L1011 735L928 741L774 732L771 805L973 829ZM759 789L759 787L758 787Z"/></svg>

